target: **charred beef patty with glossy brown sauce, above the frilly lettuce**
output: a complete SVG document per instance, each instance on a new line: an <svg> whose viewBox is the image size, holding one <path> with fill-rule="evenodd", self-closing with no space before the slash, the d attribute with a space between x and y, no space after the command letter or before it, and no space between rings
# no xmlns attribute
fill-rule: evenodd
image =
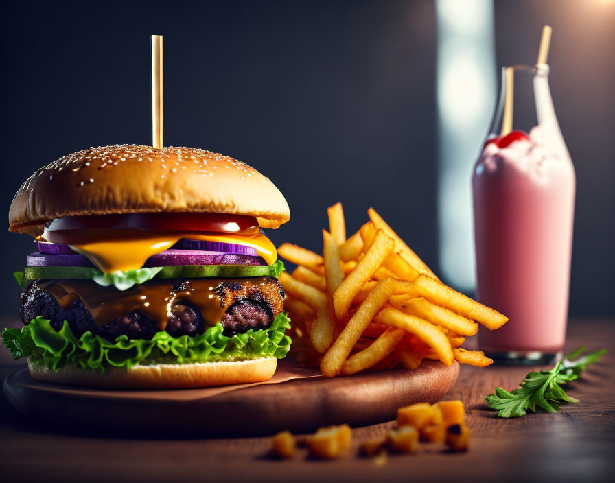
<svg viewBox="0 0 615 483"><path fill-rule="evenodd" d="M199 290L203 283L212 285L209 290ZM93 282L88 282L93 283ZM82 283L84 285L85 283ZM128 338L150 339L160 330L165 330L174 337L181 335L199 335L211 325L220 322L224 335L244 333L249 329L266 329L271 325L275 316L283 311L284 292L277 281L272 277L255 277L254 279L240 279L240 281L192 279L183 281L152 281L139 287L141 292L135 290L118 294L115 292L114 301L128 301L146 298L141 293L150 294L148 288L155 289L157 298L152 300L152 307L159 305L163 309L164 320L156 320L150 303L148 309L131 309L126 314L115 316L111 320L95 320L94 314L100 311L88 308L91 306L89 298L68 291L68 295L59 298L54 286L62 285L62 281L34 281L21 293L21 308L19 317L24 325L37 316L51 321L51 327L60 330L66 320L76 337L84 332L91 331L107 340L115 340L119 335ZM62 285L63 290L66 287ZM90 287L91 292L100 294L102 291L113 291L110 287ZM67 292L62 292L63 294ZM187 297L186 294L190 296ZM58 301L59 299L59 301ZM85 302L85 303L84 303ZM208 305L204 305L207 302ZM101 307L102 305L99 305ZM128 304L122 306L131 307ZM199 307L214 307L214 310L202 314ZM203 309L205 311L205 309ZM205 320L204 316L218 320ZM99 316L100 317L100 316ZM98 323L97 323L98 322Z"/></svg>

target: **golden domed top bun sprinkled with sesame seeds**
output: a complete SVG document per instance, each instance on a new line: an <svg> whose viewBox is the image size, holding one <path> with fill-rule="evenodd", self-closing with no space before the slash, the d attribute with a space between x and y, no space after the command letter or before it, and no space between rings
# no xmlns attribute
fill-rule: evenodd
<svg viewBox="0 0 615 483"><path fill-rule="evenodd" d="M169 212L254 216L263 228L290 219L277 187L241 161L196 148L124 144L38 169L13 198L9 230L36 236L66 216Z"/></svg>

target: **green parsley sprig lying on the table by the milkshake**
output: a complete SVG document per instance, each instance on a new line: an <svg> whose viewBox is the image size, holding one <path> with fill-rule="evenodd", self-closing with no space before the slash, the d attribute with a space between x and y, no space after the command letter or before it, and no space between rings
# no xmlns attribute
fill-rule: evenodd
<svg viewBox="0 0 615 483"><path fill-rule="evenodd" d="M525 416L527 410L536 412L539 408L557 412L563 403L578 403L579 399L568 396L560 385L578 379L585 366L599 360L606 349L579 357L584 351L585 346L579 347L555 364L553 369L529 373L513 392L497 388L494 394L485 397L487 405L498 410L500 418L518 418ZM572 360L575 357L579 358Z"/></svg>

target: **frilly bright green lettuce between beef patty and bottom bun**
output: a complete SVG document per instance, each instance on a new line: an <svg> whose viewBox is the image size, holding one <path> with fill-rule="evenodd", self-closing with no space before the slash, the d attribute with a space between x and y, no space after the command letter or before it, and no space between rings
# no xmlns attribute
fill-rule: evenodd
<svg viewBox="0 0 615 483"><path fill-rule="evenodd" d="M77 339L66 321L56 332L49 320L37 317L21 330L4 329L2 341L15 359L32 357L56 372L67 364L75 364L104 373L109 366L130 369L137 364L192 364L257 357L281 359L290 349L290 337L285 335L288 328L290 319L282 312L268 329L251 329L232 337L224 335L222 325L218 324L195 337L174 338L160 331L151 340L121 335L115 342L109 342L91 332Z"/></svg>

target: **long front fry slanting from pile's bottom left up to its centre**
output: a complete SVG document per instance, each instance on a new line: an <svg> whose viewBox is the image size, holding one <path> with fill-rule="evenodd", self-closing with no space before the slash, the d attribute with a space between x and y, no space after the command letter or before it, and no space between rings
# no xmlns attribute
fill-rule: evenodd
<svg viewBox="0 0 615 483"><path fill-rule="evenodd" d="M329 348L321 360L321 371L327 377L340 373L344 361L350 354L353 346L367 329L369 322L375 314L384 307L393 290L391 279L383 280L376 285L359 306L343 331ZM443 335L445 338L445 335Z"/></svg>

